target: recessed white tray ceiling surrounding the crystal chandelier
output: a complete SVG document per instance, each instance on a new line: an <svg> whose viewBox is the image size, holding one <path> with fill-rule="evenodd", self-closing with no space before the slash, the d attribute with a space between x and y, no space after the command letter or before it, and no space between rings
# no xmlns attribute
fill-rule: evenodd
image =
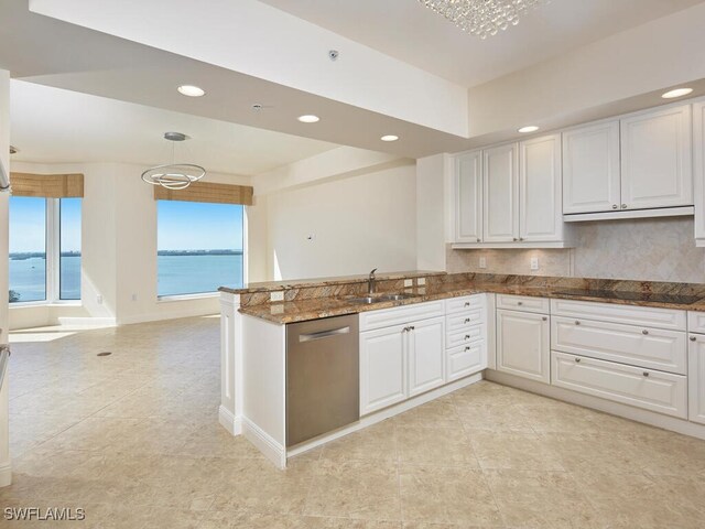
<svg viewBox="0 0 705 529"><path fill-rule="evenodd" d="M470 87L703 0L552 0L485 41L417 0L261 1Z"/></svg>

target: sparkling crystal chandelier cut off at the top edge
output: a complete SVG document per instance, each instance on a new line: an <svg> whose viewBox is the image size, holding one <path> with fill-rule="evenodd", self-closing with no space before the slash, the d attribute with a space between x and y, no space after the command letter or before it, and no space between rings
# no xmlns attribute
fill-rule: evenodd
<svg viewBox="0 0 705 529"><path fill-rule="evenodd" d="M419 0L463 31L487 39L517 25L522 14L547 0Z"/></svg>

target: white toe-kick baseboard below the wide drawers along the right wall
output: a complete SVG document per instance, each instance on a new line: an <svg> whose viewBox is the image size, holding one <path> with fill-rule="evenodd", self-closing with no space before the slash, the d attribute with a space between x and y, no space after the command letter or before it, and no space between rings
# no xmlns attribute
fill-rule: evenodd
<svg viewBox="0 0 705 529"><path fill-rule="evenodd" d="M584 406L585 408L592 408L594 410L604 411L605 413L611 413L612 415L623 417L632 421L643 422L644 424L663 428L664 430L671 430L684 435L705 440L705 425L696 424L684 419L663 415L654 411L642 410L620 402L612 402L611 400L600 399L599 397L593 397L592 395L578 393L571 391L570 389L549 386L535 380L529 380L527 378L516 377L513 375L491 369L485 371L485 378L494 382L503 384L505 386L511 386L512 388L523 389L524 391L531 391L532 393L543 395L545 397L551 397L552 399Z"/></svg>

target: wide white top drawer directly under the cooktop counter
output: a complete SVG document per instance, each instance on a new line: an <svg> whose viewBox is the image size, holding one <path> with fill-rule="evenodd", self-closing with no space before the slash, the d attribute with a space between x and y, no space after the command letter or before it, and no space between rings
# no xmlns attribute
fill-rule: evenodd
<svg viewBox="0 0 705 529"><path fill-rule="evenodd" d="M551 300L551 314L600 322L685 331L685 311L594 301Z"/></svg>

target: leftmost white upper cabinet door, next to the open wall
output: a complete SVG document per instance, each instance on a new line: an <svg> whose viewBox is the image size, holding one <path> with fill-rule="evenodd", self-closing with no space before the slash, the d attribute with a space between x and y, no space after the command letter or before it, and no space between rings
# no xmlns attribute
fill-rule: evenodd
<svg viewBox="0 0 705 529"><path fill-rule="evenodd" d="M455 240L456 242L481 242L481 151L458 156L455 171Z"/></svg>

